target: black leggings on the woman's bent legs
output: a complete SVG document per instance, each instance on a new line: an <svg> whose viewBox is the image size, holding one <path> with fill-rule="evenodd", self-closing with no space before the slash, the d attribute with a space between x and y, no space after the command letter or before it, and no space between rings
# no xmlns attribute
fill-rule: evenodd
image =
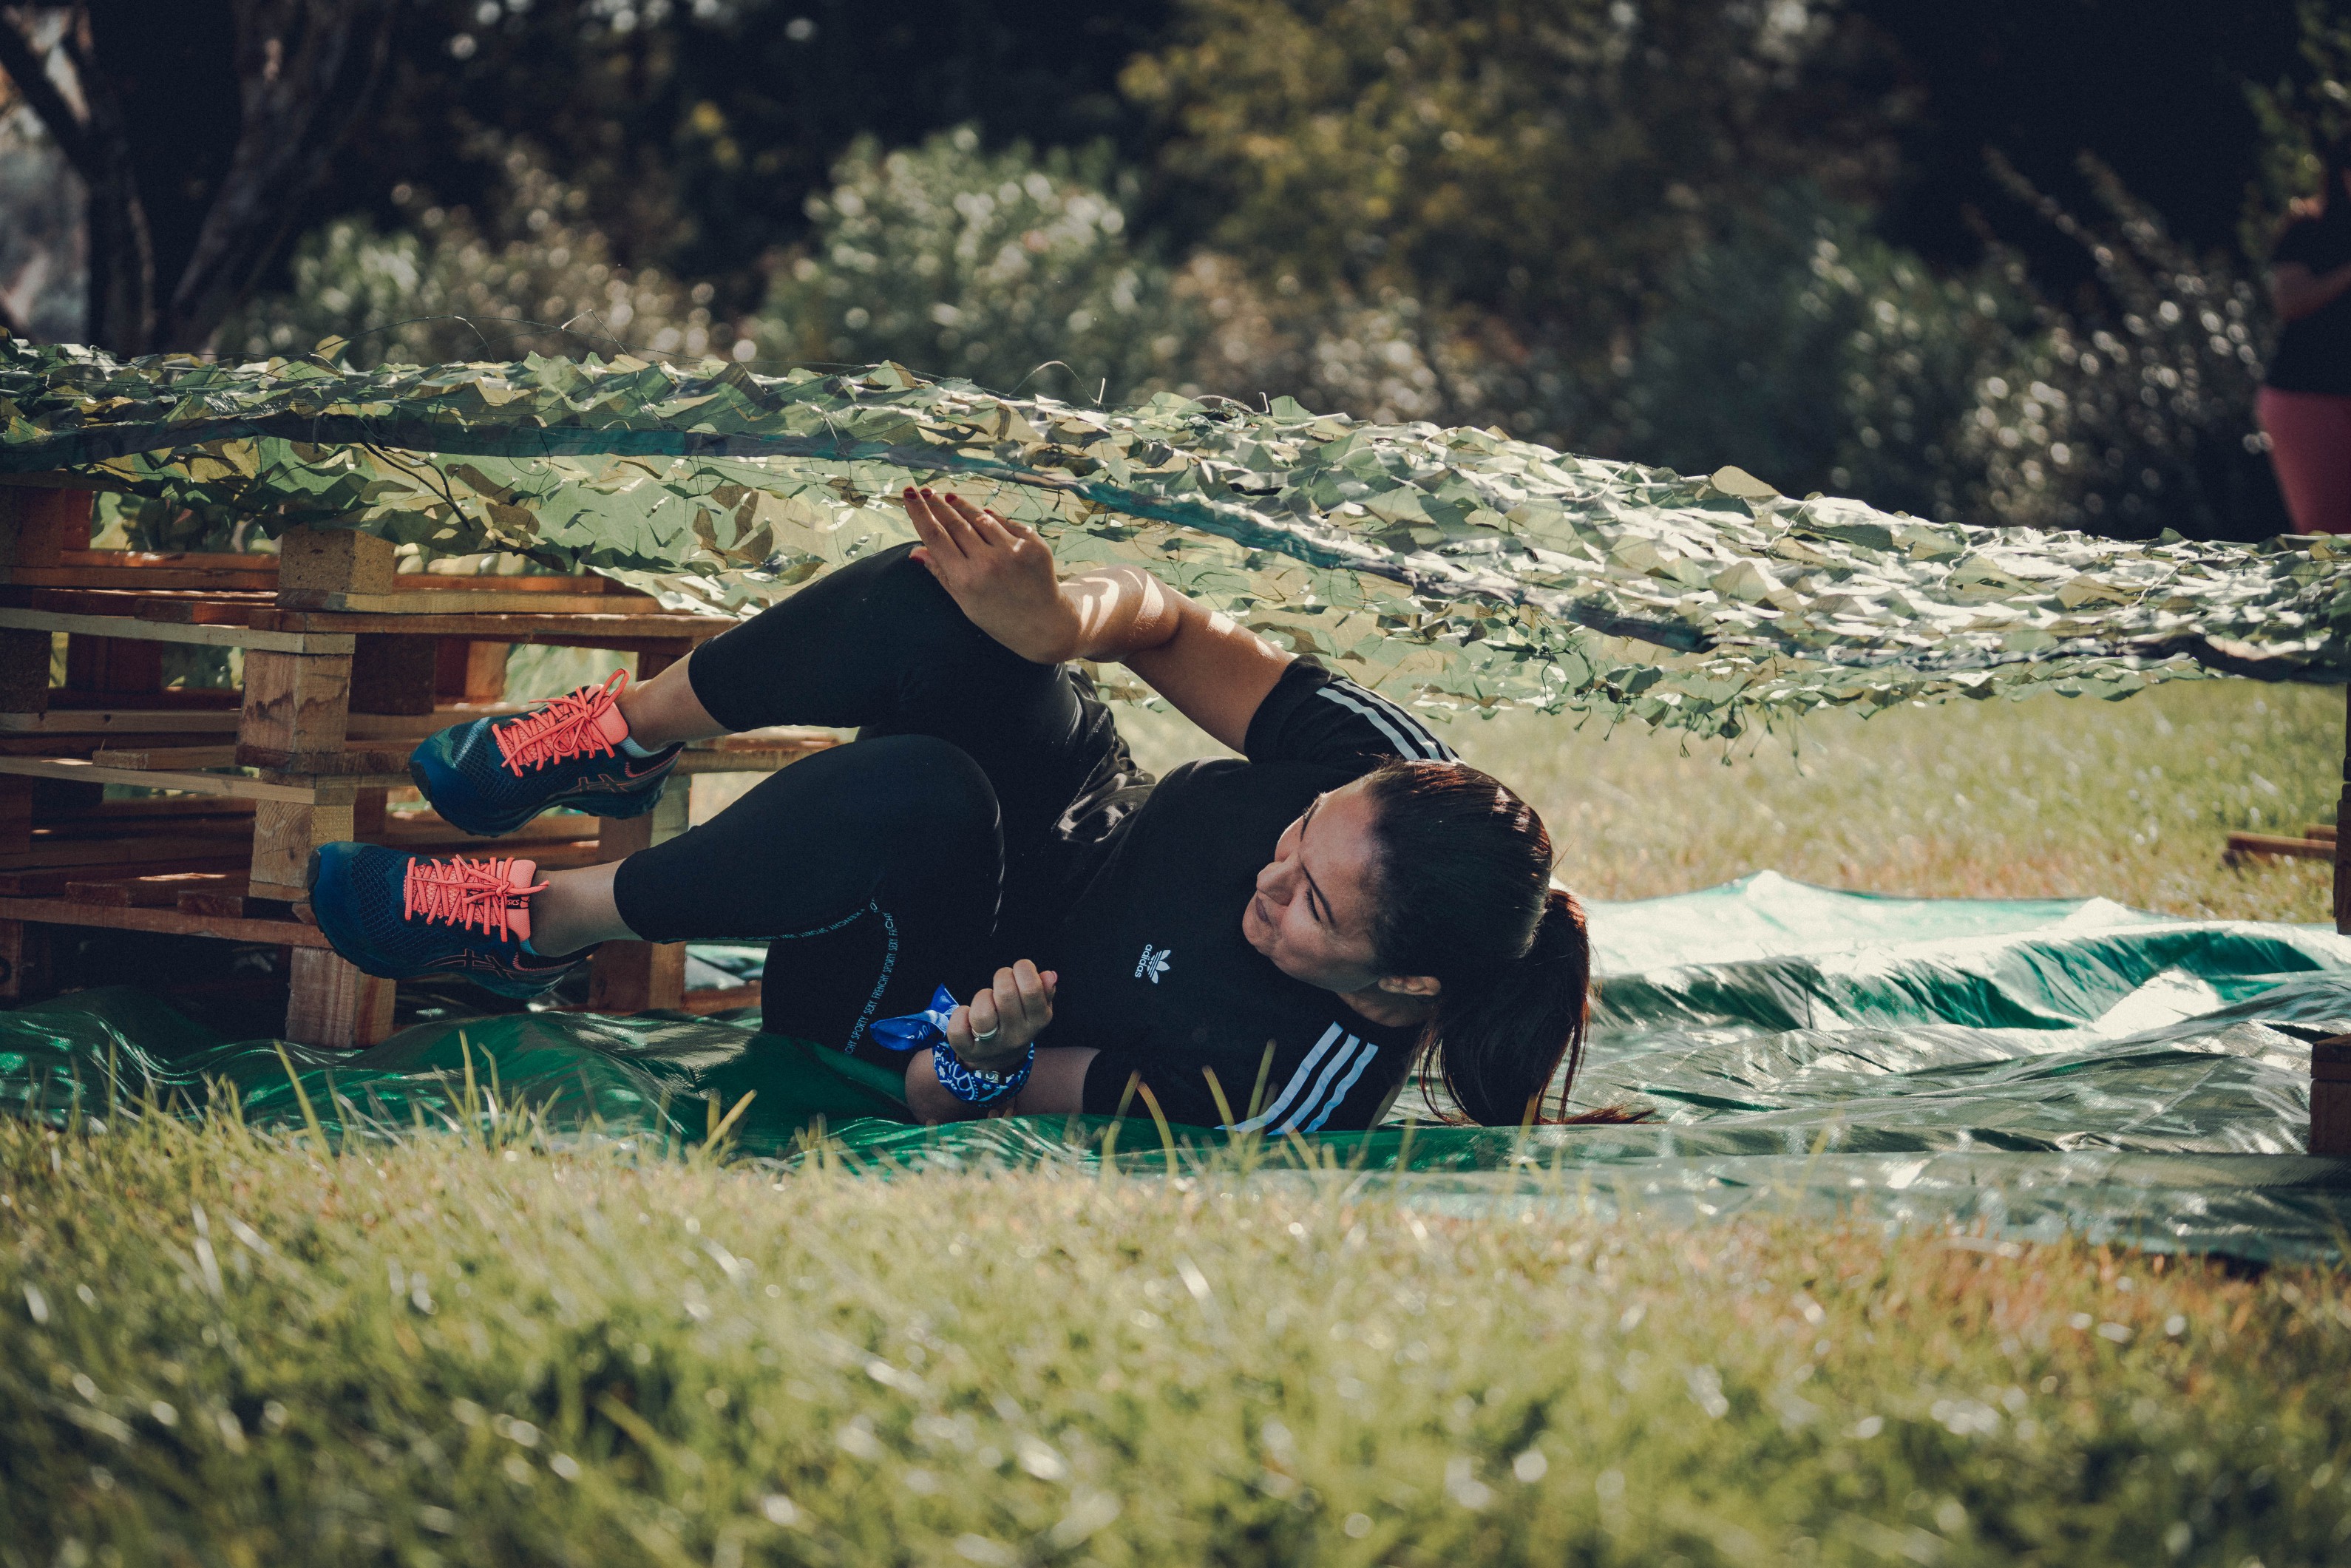
<svg viewBox="0 0 2351 1568"><path fill-rule="evenodd" d="M1051 910L1117 816L1105 795L1150 783L1079 677L971 625L907 550L842 567L694 651L694 696L726 729L856 726L858 741L614 877L621 919L647 940L773 938L764 1027L882 1060L875 1018L1044 959Z"/></svg>

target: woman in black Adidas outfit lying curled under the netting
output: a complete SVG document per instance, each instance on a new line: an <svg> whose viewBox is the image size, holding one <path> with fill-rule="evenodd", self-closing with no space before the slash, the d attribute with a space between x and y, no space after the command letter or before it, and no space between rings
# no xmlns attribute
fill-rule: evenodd
<svg viewBox="0 0 2351 1568"><path fill-rule="evenodd" d="M903 1065L929 1121L1157 1103L1359 1131L1434 1053L1469 1117L1514 1126L1561 1058L1573 1079L1585 922L1516 795L1140 569L1060 581L1025 524L912 489L905 510L919 548L642 684L447 729L411 771L496 835L649 811L686 741L830 724L853 745L588 870L334 844L310 877L336 952L527 997L604 940L764 938L764 1027ZM1126 663L1246 762L1152 783L1072 658Z"/></svg>

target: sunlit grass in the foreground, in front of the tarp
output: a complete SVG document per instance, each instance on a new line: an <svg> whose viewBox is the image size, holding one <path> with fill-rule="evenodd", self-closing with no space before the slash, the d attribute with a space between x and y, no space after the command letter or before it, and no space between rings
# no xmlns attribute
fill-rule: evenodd
<svg viewBox="0 0 2351 1568"><path fill-rule="evenodd" d="M0 1563L2325 1561L2342 1276L0 1124Z"/></svg>

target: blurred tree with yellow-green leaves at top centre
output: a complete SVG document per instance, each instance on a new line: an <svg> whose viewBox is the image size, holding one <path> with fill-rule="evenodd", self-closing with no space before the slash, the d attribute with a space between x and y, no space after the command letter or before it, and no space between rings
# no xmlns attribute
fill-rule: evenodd
<svg viewBox="0 0 2351 1568"><path fill-rule="evenodd" d="M1801 0L1185 0L1126 89L1171 200L1277 296L1596 353L1721 207L1883 176L1878 71Z"/></svg>

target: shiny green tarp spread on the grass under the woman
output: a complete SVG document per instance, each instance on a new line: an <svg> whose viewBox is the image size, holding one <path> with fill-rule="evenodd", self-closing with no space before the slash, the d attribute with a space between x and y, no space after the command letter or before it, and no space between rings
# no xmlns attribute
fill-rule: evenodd
<svg viewBox="0 0 2351 1568"><path fill-rule="evenodd" d="M1441 1211L1860 1215L2078 1232L2248 1258L2335 1258L2351 1161L2304 1154L2309 1041L2351 1032L2351 938L2177 922L2106 900L1902 900L1770 872L1599 905L1601 990L1580 1105L1632 1126L1408 1124L1244 1150L1176 1128L1178 1161L1305 1166ZM470 1084L468 1084L470 1067ZM289 1070L294 1077L289 1077ZM301 1093L296 1093L296 1079ZM985 1161L1096 1168L1103 1119L922 1128L893 1074L705 1020L524 1013L418 1025L364 1053L205 1037L162 1001L87 992L0 1016L0 1098L52 1121L141 1114L226 1084L259 1124L331 1131L531 1110L552 1138L677 1147L717 1107L748 1157L830 1147L882 1173ZM308 1110L303 1107L308 1100ZM1166 1161L1150 1121L1112 1159ZM1328 1180L1328 1178L1314 1178Z"/></svg>

